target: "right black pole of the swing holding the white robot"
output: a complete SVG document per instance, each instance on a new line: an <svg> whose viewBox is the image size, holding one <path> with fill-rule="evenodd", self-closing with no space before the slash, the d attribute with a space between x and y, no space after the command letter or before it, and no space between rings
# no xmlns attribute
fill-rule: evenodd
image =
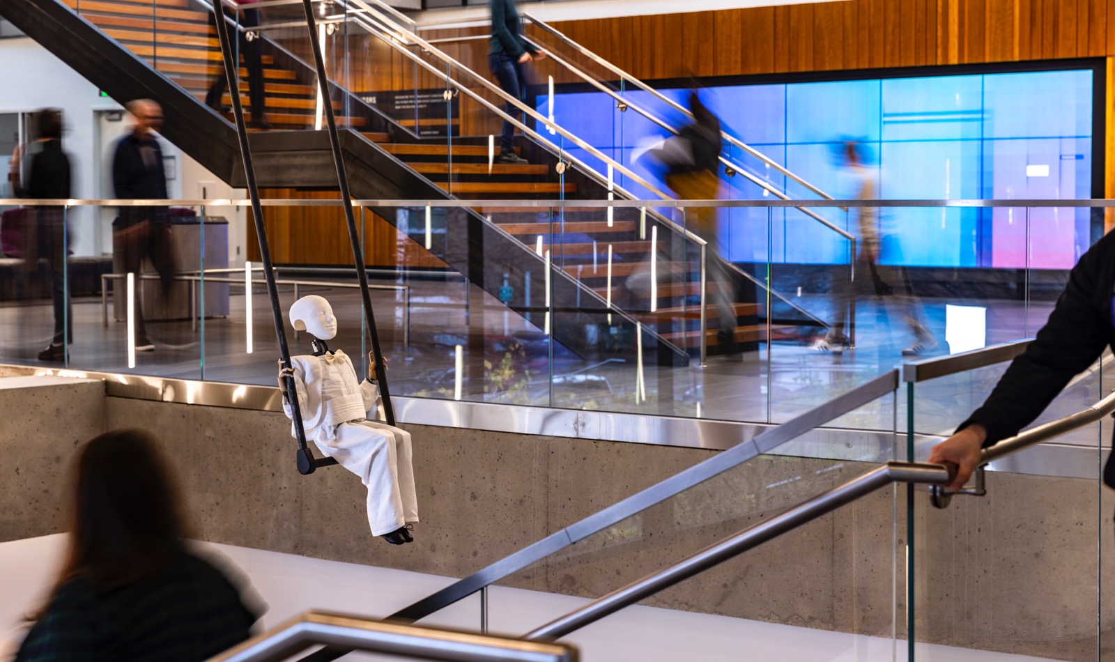
<svg viewBox="0 0 1115 662"><path fill-rule="evenodd" d="M363 302L363 314L368 322L368 334L371 338L371 357L375 363L376 381L384 399L384 418L387 425L395 425L395 408L391 406L391 395L387 388L387 369L384 366L384 353L379 348L379 332L376 330L376 315L371 309L371 294L368 292L368 272L365 270L363 251L360 247L360 233L356 227L356 216L352 213L352 196L349 194L348 175L345 172L345 155L341 153L340 137L337 134L337 117L329 94L329 79L326 77L326 61L321 56L321 43L318 42L318 30L313 18L311 0L302 0L306 11L306 27L310 31L310 46L313 51L313 64L318 70L318 89L321 90L326 121L329 126L329 144L333 150L333 164L337 167L337 185L340 188L345 208L345 220L348 222L349 242L352 244L352 260L356 264L357 278L360 281L360 296Z"/></svg>

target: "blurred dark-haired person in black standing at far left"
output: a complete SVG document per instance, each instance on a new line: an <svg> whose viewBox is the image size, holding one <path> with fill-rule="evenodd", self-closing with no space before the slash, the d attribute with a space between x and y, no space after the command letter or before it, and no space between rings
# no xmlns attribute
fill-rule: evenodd
<svg viewBox="0 0 1115 662"><path fill-rule="evenodd" d="M35 114L36 150L27 169L25 197L32 199L61 199L74 197L69 156L62 152L62 114L57 108L43 108ZM66 207L32 207L36 249L27 254L29 266L38 260L50 265L51 298L55 308L55 337L47 349L39 352L43 361L60 361L66 357L66 344L74 342L74 309L64 279L67 255Z"/></svg>

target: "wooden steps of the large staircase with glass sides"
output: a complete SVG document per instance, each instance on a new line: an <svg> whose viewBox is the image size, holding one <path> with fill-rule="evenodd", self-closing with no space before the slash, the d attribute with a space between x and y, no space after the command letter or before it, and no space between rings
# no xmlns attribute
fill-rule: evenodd
<svg viewBox="0 0 1115 662"><path fill-rule="evenodd" d="M209 14L198 6L191 4L190 0L62 2L198 101L204 101L216 77L223 76L220 45L209 25ZM273 46L269 41L263 45L264 117L277 130L313 129L316 76L303 64L292 61L289 53ZM249 77L243 64L240 77L241 103L245 114L250 114ZM332 101L339 127L361 132L366 138L454 197L475 201L568 199L578 195L603 195L602 191L580 191L578 182L583 185L586 179L559 177L551 165L489 165L486 144L468 144L467 138L455 138L452 143L445 138L419 139L411 133L413 126L408 129L407 121L395 123L390 133L372 132L371 128L386 126L386 114L379 116L362 101L352 103L352 97L349 99L348 104L337 99ZM227 91L222 101L231 104ZM231 115L225 117L231 119ZM445 123L445 119L440 121ZM411 119L410 125L415 125L415 120ZM516 148L516 152L520 149ZM685 253L686 249L679 249L681 240L677 234L665 226L658 230L659 260L655 269L659 286L656 305L651 305L648 292L634 292L627 286L628 279L637 274L643 274L644 281L649 282L650 236L656 223L652 217L641 224L638 210L615 208L613 221L609 224L603 208L566 207L563 216L554 214L555 222L551 223L551 211L545 207L478 207L475 211L518 240L523 250L536 249L537 237L542 236L543 250L551 251L552 264L575 280L585 292L595 292L602 300L610 300L617 312L626 312L675 345L696 353L700 334L698 264L691 252L688 259L662 257L677 254L679 250ZM558 218L563 222L558 223ZM612 249L610 290L607 269L609 245ZM709 286L715 288L715 284ZM605 310L604 303L593 300L591 294L581 298L581 305ZM765 339L766 327L757 323L762 312L755 303L737 304L740 327L736 330L736 342ZM715 306L709 306L708 320L708 345L715 352L719 342Z"/></svg>

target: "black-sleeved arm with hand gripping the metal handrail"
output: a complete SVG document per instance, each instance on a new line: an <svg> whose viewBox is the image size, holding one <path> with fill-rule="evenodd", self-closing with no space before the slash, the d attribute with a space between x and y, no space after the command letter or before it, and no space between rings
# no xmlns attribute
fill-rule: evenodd
<svg viewBox="0 0 1115 662"><path fill-rule="evenodd" d="M1069 272L1049 321L1026 352L1010 363L983 406L933 448L929 461L958 466L954 489L976 469L981 448L1018 434L1074 376L1095 362L1105 347L1115 347L1113 285L1115 233L1108 233ZM1115 487L1111 459L1104 467L1104 484Z"/></svg>

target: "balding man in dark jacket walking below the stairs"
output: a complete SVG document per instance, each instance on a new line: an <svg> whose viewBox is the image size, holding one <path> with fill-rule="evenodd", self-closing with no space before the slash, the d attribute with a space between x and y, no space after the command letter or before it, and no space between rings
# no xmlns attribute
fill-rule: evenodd
<svg viewBox="0 0 1115 662"><path fill-rule="evenodd" d="M163 150L154 132L163 126L163 108L151 99L127 104L135 118L132 133L122 137L113 155L113 186L118 199L166 199L166 169ZM149 259L162 278L163 294L169 292L174 278L174 250L165 206L120 207L113 222L114 243L120 252L124 273L140 273ZM142 292L139 282L136 291ZM142 295L135 299L136 351L152 351L143 318Z"/></svg>

